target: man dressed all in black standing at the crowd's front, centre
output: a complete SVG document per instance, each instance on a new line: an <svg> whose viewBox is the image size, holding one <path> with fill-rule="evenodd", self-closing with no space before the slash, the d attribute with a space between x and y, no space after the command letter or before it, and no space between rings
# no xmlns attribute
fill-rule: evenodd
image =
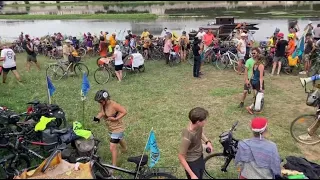
<svg viewBox="0 0 320 180"><path fill-rule="evenodd" d="M203 49L201 49L201 40L197 37L194 38L193 41L193 56L194 56L194 64L193 64L193 77L200 78L200 66L201 66L201 53Z"/></svg>

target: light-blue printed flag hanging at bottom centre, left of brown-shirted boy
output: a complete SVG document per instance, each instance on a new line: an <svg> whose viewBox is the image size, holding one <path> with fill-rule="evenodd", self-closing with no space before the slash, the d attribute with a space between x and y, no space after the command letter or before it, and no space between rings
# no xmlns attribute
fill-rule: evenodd
<svg viewBox="0 0 320 180"><path fill-rule="evenodd" d="M149 141L145 150L150 151L149 167L152 168L160 159L160 151L157 145L156 135L153 130L150 132Z"/></svg>

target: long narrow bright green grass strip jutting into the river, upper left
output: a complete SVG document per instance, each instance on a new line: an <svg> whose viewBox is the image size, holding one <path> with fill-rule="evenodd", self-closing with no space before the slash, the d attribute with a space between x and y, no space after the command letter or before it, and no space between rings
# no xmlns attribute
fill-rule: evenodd
<svg viewBox="0 0 320 180"><path fill-rule="evenodd" d="M22 20L54 20L54 19L157 19L157 15L149 13L135 14L64 14L64 15L0 15L0 19Z"/></svg>

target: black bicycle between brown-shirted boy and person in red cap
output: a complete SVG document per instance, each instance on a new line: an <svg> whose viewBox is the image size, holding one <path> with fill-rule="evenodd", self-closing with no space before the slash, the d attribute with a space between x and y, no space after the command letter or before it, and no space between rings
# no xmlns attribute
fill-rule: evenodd
<svg viewBox="0 0 320 180"><path fill-rule="evenodd" d="M235 158L238 142L233 138L233 131L236 130L238 121L235 122L229 131L223 132L219 138L219 142L223 147L222 153L210 154L205 161L205 175L210 179L237 179L239 172L235 169L234 164L231 166L231 161ZM232 169L234 168L234 169ZM229 170L227 170L229 169ZM221 173L222 172L222 173Z"/></svg>

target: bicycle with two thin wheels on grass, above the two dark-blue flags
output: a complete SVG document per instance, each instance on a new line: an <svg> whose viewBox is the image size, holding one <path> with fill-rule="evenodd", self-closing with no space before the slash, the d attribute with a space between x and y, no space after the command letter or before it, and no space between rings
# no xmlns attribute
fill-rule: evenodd
<svg viewBox="0 0 320 180"><path fill-rule="evenodd" d="M83 63L80 63L78 61L76 62L62 61L61 59L57 59L57 61L58 61L57 63L49 64L49 67L46 70L46 75L50 77L50 79L52 80L58 81L63 77L67 76L71 68L71 65L74 65L73 71L75 75L82 75L83 73L86 73L86 75L89 76L89 69ZM64 67L66 66L67 68L65 69ZM50 73L52 73L52 75Z"/></svg>

